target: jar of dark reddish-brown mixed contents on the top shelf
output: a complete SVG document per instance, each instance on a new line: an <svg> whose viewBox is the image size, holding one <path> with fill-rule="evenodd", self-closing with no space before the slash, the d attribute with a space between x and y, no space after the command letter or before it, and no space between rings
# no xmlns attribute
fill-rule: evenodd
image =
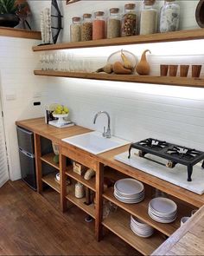
<svg viewBox="0 0 204 256"><path fill-rule="evenodd" d="M134 3L126 3L124 5L124 16L122 18L121 36L137 35L138 19L135 11Z"/></svg>

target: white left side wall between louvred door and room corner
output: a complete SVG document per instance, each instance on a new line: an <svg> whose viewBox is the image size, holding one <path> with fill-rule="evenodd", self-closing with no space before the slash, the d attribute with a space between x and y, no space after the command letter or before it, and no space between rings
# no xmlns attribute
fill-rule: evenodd
<svg viewBox="0 0 204 256"><path fill-rule="evenodd" d="M47 102L47 78L33 75L38 55L31 49L38 43L0 36L0 89L12 181L21 177L15 121L43 115ZM41 102L41 106L33 102Z"/></svg>

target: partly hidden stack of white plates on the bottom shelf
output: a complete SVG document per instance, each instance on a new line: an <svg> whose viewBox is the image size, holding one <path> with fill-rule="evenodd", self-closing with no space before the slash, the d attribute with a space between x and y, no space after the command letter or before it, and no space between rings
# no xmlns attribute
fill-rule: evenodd
<svg viewBox="0 0 204 256"><path fill-rule="evenodd" d="M136 217L131 215L131 230L136 233L138 236L143 238L150 237L154 233L154 228L142 220L139 220Z"/></svg>

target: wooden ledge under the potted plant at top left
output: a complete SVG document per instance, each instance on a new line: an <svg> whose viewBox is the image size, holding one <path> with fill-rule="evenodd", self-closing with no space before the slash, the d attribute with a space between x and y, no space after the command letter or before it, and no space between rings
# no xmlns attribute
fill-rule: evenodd
<svg viewBox="0 0 204 256"><path fill-rule="evenodd" d="M0 27L0 36L41 40L41 32Z"/></svg>

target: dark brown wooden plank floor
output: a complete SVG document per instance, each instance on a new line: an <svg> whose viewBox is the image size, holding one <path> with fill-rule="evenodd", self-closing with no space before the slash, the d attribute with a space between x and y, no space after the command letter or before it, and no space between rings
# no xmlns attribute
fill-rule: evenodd
<svg viewBox="0 0 204 256"><path fill-rule="evenodd" d="M59 194L46 191L42 197L22 181L0 188L0 255L140 255L107 231L98 243L86 213L61 213Z"/></svg>

